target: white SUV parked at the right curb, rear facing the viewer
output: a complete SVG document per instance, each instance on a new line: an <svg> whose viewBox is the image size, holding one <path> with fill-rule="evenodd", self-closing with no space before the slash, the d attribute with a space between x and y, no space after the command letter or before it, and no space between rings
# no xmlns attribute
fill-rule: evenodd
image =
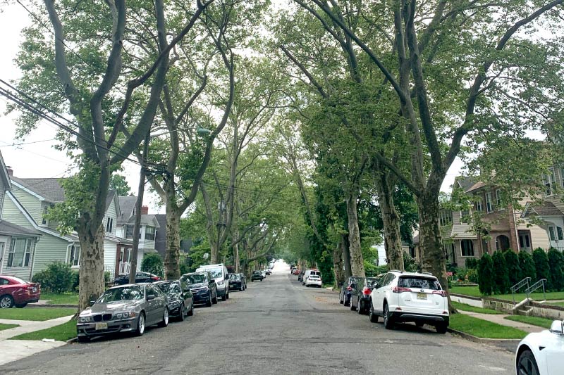
<svg viewBox="0 0 564 375"><path fill-rule="evenodd" d="M396 322L431 324L438 333L448 327L448 298L439 280L431 274L391 271L370 293L370 322L384 317L386 329Z"/></svg>

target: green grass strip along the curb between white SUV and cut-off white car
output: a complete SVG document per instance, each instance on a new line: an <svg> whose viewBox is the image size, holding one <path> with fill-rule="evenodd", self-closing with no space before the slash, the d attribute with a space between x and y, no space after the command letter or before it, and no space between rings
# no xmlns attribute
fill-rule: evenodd
<svg viewBox="0 0 564 375"><path fill-rule="evenodd" d="M450 315L451 329L468 333L479 338L524 338L527 332L513 327L502 326L465 314Z"/></svg>

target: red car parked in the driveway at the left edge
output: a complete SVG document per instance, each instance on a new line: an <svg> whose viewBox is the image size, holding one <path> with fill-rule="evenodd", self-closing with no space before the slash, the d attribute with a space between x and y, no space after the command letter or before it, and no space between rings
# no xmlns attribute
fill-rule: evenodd
<svg viewBox="0 0 564 375"><path fill-rule="evenodd" d="M19 277L0 275L0 308L25 307L39 300L41 286L23 281Z"/></svg>

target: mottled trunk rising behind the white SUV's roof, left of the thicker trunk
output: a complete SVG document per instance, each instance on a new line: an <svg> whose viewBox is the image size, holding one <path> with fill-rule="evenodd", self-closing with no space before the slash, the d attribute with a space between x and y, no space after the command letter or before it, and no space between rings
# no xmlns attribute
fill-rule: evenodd
<svg viewBox="0 0 564 375"><path fill-rule="evenodd" d="M388 181L388 173L378 172L376 190L384 224L384 249L386 262L390 269L403 271L403 251L401 249L400 215L393 202L393 184Z"/></svg>

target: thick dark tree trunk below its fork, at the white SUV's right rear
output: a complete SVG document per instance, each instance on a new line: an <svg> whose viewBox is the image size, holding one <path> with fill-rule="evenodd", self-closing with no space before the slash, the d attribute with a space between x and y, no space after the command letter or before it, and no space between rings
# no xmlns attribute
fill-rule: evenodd
<svg viewBox="0 0 564 375"><path fill-rule="evenodd" d="M439 227L439 200L430 194L418 197L417 208L423 271L430 272L439 279L443 289L448 292L446 259ZM451 313L456 312L450 303L450 296L448 296L448 309Z"/></svg>

